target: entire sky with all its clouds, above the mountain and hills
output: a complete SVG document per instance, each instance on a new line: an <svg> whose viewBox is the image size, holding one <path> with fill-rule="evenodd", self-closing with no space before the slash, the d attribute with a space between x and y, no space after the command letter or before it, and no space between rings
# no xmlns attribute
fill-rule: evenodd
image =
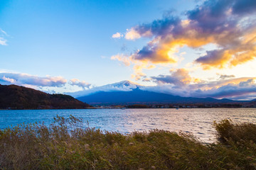
<svg viewBox="0 0 256 170"><path fill-rule="evenodd" d="M255 0L0 1L0 84L251 100L255 58Z"/></svg>

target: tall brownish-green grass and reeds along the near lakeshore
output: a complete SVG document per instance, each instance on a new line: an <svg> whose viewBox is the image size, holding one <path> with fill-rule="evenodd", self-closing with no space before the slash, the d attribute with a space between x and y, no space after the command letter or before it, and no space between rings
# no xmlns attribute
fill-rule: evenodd
<svg viewBox="0 0 256 170"><path fill-rule="evenodd" d="M102 132L57 116L0 130L0 169L256 169L256 125L213 124L220 142L165 130Z"/></svg>

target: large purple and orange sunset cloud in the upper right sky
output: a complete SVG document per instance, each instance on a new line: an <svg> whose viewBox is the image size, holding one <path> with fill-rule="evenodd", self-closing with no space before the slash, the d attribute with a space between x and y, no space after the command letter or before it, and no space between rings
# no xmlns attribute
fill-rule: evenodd
<svg viewBox="0 0 256 170"><path fill-rule="evenodd" d="M127 29L127 40L151 38L130 56L132 61L174 64L178 62L176 54L181 47L200 48L208 44L217 48L195 60L203 69L223 69L254 60L256 21L248 18L255 14L256 6L251 1L241 3L207 0L187 11L184 20L165 16Z"/></svg>

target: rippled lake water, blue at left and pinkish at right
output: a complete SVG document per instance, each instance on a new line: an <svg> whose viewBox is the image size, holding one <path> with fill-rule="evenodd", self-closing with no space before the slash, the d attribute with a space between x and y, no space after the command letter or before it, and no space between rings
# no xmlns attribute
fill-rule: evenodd
<svg viewBox="0 0 256 170"><path fill-rule="evenodd" d="M203 142L215 141L214 120L256 123L256 108L151 108L0 111L0 129L20 123L53 123L56 115L89 121L91 128L122 133L153 129L191 132ZM85 123L85 127L87 127Z"/></svg>

